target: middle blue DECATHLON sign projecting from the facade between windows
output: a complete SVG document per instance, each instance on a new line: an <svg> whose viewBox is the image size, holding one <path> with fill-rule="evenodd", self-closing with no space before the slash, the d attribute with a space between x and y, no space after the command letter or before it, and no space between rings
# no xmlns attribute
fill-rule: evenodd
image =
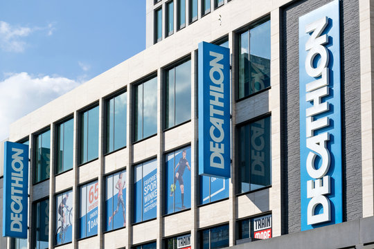
<svg viewBox="0 0 374 249"><path fill-rule="evenodd" d="M230 50L199 44L199 174L230 178Z"/></svg>

